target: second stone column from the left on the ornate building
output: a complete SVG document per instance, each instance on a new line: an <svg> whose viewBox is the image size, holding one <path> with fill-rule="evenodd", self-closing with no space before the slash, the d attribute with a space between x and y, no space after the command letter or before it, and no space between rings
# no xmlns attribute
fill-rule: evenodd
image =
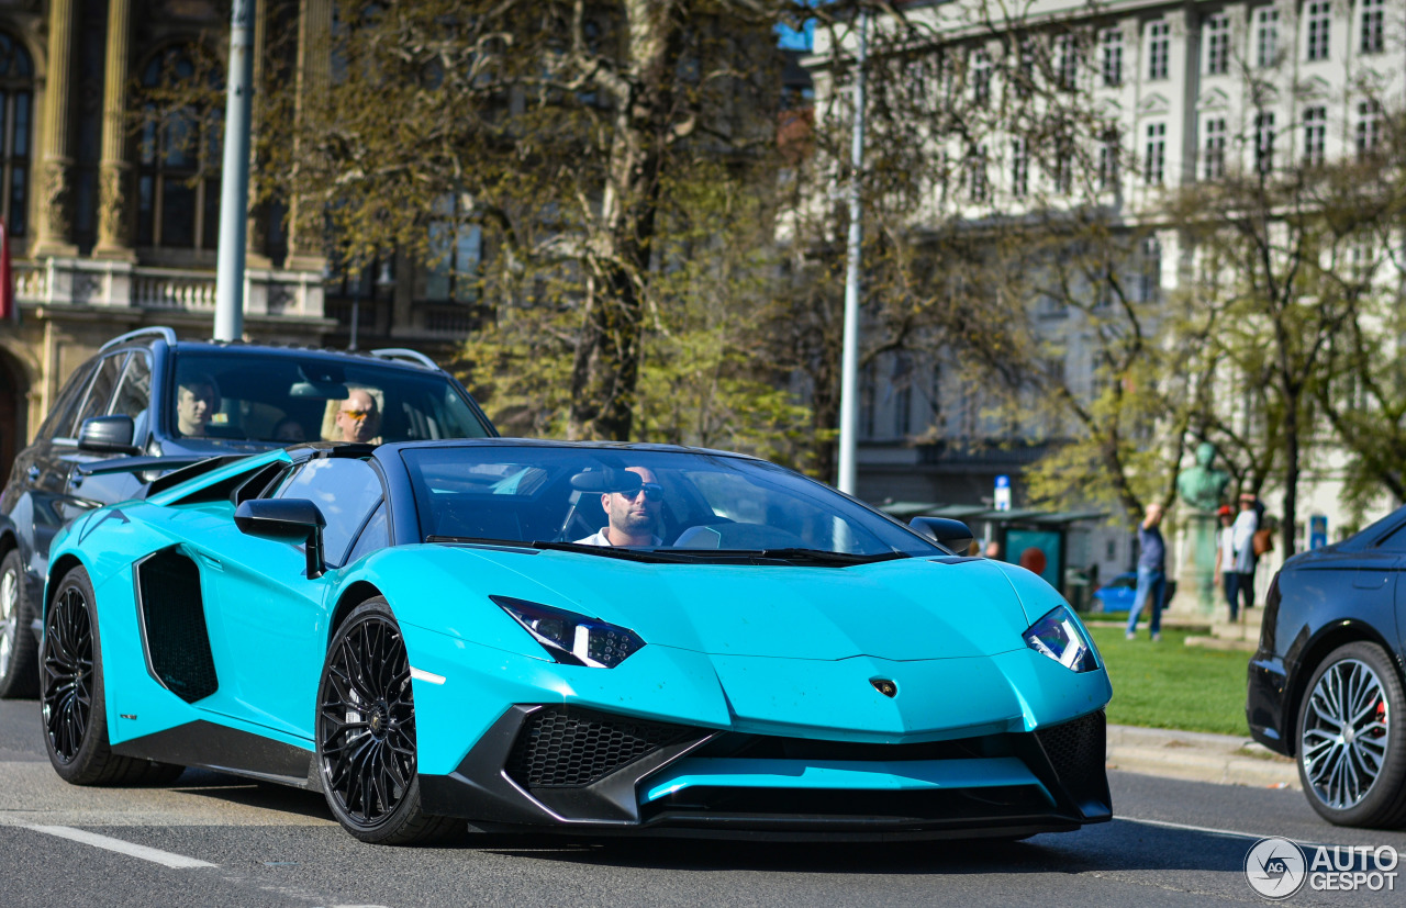
<svg viewBox="0 0 1406 908"><path fill-rule="evenodd" d="M131 171L127 159L127 48L132 0L108 0L103 74L103 163L98 170L96 259L136 261L131 246Z"/></svg>

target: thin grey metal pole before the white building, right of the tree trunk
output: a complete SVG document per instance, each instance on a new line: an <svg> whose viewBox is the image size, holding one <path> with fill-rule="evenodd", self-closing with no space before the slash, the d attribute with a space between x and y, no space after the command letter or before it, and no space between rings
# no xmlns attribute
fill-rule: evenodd
<svg viewBox="0 0 1406 908"><path fill-rule="evenodd" d="M849 263L845 275L845 337L839 371L839 482L841 492L855 493L855 436L859 432L859 250L863 245L860 174L865 169L865 62L868 60L869 11L859 14L859 53L855 58L855 127L849 173Z"/></svg>

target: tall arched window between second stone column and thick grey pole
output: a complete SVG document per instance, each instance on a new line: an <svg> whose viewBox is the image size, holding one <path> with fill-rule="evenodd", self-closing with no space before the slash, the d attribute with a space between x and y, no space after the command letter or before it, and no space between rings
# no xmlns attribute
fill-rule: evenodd
<svg viewBox="0 0 1406 908"><path fill-rule="evenodd" d="M157 53L142 70L142 87L152 94L198 80L188 51L180 46ZM214 105L145 104L136 162L139 246L218 246L221 119Z"/></svg>

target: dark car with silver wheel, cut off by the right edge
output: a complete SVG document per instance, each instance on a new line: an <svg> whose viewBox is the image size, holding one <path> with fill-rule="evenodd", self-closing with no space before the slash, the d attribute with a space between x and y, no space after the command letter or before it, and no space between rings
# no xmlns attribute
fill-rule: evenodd
<svg viewBox="0 0 1406 908"><path fill-rule="evenodd" d="M1344 826L1406 822L1403 568L1406 507L1289 558L1250 662L1250 732L1296 758L1309 804Z"/></svg>

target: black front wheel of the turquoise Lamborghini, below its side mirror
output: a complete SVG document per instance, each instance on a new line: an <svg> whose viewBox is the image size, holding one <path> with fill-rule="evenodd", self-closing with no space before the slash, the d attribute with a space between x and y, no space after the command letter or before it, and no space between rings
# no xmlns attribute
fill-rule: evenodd
<svg viewBox="0 0 1406 908"><path fill-rule="evenodd" d="M357 606L332 635L318 687L316 739L328 804L356 838L411 845L464 828L420 810L411 663L380 596Z"/></svg>

